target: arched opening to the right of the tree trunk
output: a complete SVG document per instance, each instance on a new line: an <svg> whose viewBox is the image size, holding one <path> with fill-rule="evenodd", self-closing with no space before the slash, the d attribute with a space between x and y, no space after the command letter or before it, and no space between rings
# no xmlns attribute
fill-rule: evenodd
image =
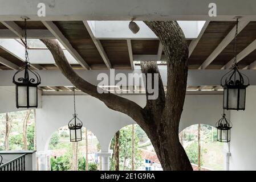
<svg viewBox="0 0 256 182"><path fill-rule="evenodd" d="M224 170L224 146L217 141L215 127L205 124L191 125L182 130L179 137L194 170Z"/></svg>

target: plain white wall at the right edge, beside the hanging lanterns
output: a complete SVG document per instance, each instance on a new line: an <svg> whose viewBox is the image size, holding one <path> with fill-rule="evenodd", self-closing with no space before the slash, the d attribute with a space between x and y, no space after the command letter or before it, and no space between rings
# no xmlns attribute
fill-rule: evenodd
<svg viewBox="0 0 256 182"><path fill-rule="evenodd" d="M256 86L246 92L246 110L230 114L230 170L256 170Z"/></svg>

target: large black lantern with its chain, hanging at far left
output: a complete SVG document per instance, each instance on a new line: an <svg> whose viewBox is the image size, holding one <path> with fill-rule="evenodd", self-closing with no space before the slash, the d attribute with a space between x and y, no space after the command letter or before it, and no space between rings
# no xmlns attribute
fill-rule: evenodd
<svg viewBox="0 0 256 182"><path fill-rule="evenodd" d="M20 77L21 76L21 77ZM16 85L16 107L37 107L38 106L38 85L41 78L30 69L29 56L27 52L27 34L25 19L25 62L13 76L13 83Z"/></svg>

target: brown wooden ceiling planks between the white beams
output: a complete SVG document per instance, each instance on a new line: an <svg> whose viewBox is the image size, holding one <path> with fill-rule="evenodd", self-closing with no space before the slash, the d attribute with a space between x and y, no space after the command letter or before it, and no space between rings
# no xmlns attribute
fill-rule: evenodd
<svg viewBox="0 0 256 182"><path fill-rule="evenodd" d="M19 27L24 28L23 22L15 22ZM57 21L53 22L62 34L66 37L71 46L86 61L91 69L107 69L103 57L95 46L89 32L82 21ZM224 40L234 28L235 22L210 22L202 34L197 46L189 57L189 69L198 69L200 65L211 55L211 53ZM42 22L28 22L28 29L46 30ZM0 23L0 29L7 29ZM0 35L1 36L1 35ZM248 23L238 35L238 53L243 51L256 39L256 22ZM116 69L131 69L131 61L127 40L104 39L99 40L109 62ZM188 40L188 46L192 40ZM157 55L159 40L131 40L133 55ZM164 52L162 52L164 54ZM18 66L22 61L3 49L0 49L0 56ZM233 41L226 46L221 53L206 67L206 69L221 69L226 63L233 59ZM253 63L256 60L256 50L249 53L241 61L239 68ZM54 64L41 64L44 69L58 69ZM74 69L83 69L80 65L72 65ZM0 64L0 69L10 69Z"/></svg>

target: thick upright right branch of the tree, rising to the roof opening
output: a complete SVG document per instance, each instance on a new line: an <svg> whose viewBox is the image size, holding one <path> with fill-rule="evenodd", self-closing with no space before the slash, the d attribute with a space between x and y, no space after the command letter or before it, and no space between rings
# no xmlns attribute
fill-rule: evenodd
<svg viewBox="0 0 256 182"><path fill-rule="evenodd" d="M168 82L164 113L166 118L172 118L173 127L178 133L188 77L188 46L185 35L176 21L144 21L144 23L159 37L167 58ZM170 121L163 119L162 122ZM168 125L162 123L165 124Z"/></svg>

